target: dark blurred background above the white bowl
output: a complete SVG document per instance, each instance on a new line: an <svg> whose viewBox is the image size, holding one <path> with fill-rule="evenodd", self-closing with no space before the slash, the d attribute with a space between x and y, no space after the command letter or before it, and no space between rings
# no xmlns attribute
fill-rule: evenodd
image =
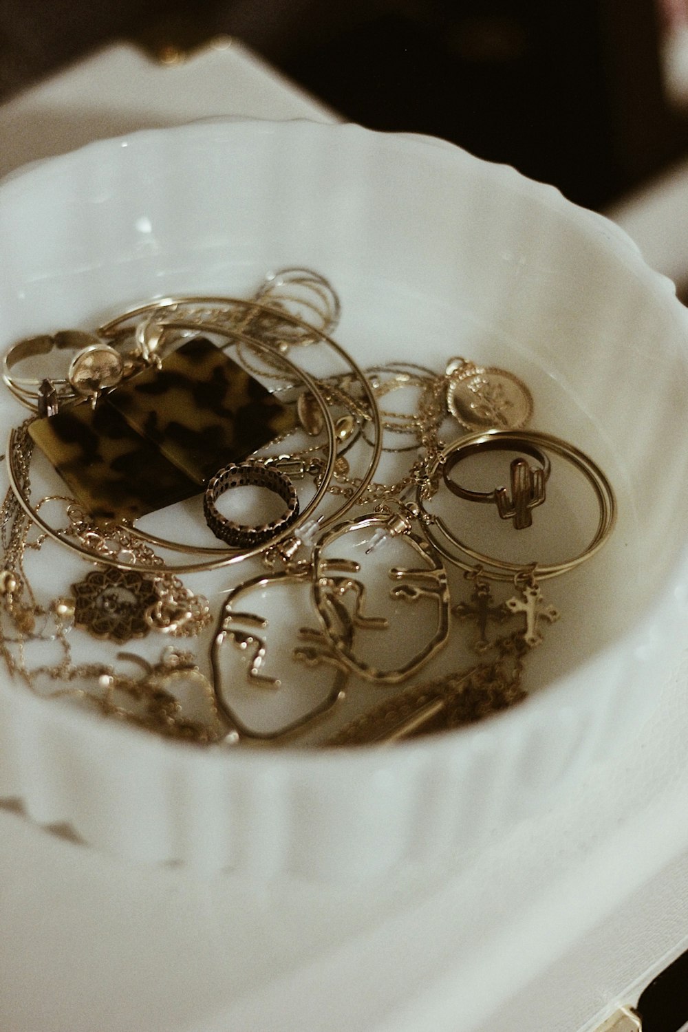
<svg viewBox="0 0 688 1032"><path fill-rule="evenodd" d="M349 120L441 136L601 208L688 153L662 67L680 5L0 0L0 100L108 41L160 52L227 33Z"/></svg>

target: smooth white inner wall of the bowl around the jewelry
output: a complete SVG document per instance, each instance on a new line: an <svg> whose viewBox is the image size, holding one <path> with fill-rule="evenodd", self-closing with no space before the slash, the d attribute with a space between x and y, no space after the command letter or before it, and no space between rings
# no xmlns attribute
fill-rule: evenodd
<svg viewBox="0 0 688 1032"><path fill-rule="evenodd" d="M565 620L533 654L531 688L628 647L676 579L685 314L622 234L551 188L420 137L204 123L96 143L5 182L0 263L3 349L152 297L247 296L266 271L298 265L337 290L334 335L363 366L441 370L460 355L518 375L532 426L587 452L618 502L609 545L548 585ZM4 428L19 411L3 402ZM563 483L524 561L575 554L591 536L594 498L576 476ZM510 548L509 533L490 546Z"/></svg>

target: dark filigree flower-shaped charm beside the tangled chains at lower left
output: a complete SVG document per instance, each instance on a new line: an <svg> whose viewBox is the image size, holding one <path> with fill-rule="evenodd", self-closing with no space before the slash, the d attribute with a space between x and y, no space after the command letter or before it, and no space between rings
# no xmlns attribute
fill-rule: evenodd
<svg viewBox="0 0 688 1032"><path fill-rule="evenodd" d="M146 613L158 601L155 582L135 570L93 570L72 584L74 624L95 638L122 644L151 630Z"/></svg>

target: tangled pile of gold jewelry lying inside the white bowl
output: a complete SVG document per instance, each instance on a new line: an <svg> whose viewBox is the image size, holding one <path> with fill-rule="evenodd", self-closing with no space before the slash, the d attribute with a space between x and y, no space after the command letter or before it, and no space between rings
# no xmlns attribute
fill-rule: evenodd
<svg viewBox="0 0 688 1032"><path fill-rule="evenodd" d="M559 616L540 585L607 541L612 487L525 428L533 399L509 370L361 369L331 336L339 312L325 279L285 269L252 298L166 297L8 350L3 381L31 412L0 511L11 674L228 746L397 741L525 698L524 660ZM507 487L494 453L514 456ZM598 511L581 551L524 562L468 543L542 518L557 462Z"/></svg>

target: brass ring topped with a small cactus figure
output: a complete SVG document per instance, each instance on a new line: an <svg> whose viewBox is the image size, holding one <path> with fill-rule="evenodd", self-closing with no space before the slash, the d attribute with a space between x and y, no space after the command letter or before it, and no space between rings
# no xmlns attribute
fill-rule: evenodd
<svg viewBox="0 0 688 1032"><path fill-rule="evenodd" d="M511 496L505 487L492 491L474 491L457 483L450 473L469 455L486 451L511 451L529 455L539 464L532 469L526 459L515 458L510 467ZM468 502L490 502L496 505L502 519L511 519L517 530L532 523L531 511L545 502L545 484L550 476L547 453L528 440L528 436L515 431L487 432L469 439L460 439L445 453L441 473L447 487L453 494Z"/></svg>

